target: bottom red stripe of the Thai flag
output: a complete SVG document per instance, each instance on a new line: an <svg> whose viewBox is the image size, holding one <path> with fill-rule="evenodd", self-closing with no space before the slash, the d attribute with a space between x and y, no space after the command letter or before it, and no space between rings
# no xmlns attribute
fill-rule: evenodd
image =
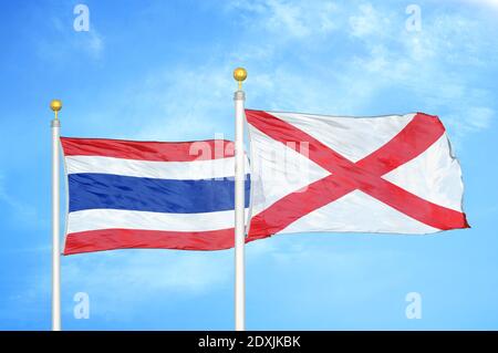
<svg viewBox="0 0 498 353"><path fill-rule="evenodd" d="M98 229L69 233L64 255L115 249L222 250L234 247L234 228L211 231Z"/></svg>

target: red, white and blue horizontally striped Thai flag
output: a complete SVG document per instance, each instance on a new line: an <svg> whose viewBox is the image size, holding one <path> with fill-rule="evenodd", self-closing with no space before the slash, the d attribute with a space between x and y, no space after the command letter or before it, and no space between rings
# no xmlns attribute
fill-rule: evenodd
<svg viewBox="0 0 498 353"><path fill-rule="evenodd" d="M234 247L234 143L61 143L69 190L64 255ZM249 188L247 176L246 207Z"/></svg>

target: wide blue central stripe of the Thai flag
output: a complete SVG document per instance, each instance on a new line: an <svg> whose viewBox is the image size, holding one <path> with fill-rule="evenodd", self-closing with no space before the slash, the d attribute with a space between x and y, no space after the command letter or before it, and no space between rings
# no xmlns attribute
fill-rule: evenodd
<svg viewBox="0 0 498 353"><path fill-rule="evenodd" d="M114 174L70 174L70 212L111 208L152 212L198 214L235 208L234 178L173 180ZM246 207L249 206L249 175Z"/></svg>

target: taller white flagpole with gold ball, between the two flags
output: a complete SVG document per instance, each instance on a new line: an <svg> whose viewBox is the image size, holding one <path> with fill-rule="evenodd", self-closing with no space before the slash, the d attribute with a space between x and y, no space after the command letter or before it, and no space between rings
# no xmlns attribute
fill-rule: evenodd
<svg viewBox="0 0 498 353"><path fill-rule="evenodd" d="M243 155L243 103L246 94L242 91L242 82L247 77L247 71L237 68L234 71L234 79L239 87L235 92L236 110L236 183L235 183L235 329L236 331L246 330L246 269L243 247L246 243L245 225L245 155Z"/></svg>

